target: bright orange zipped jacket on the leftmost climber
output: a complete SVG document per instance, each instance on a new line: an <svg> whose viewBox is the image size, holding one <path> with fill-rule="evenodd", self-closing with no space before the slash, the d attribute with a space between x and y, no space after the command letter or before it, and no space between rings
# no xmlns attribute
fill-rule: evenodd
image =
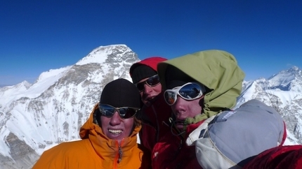
<svg viewBox="0 0 302 169"><path fill-rule="evenodd" d="M150 168L150 156L143 156L143 150L136 142L140 126L134 128L121 145L117 140L107 138L98 124L93 123L96 104L87 122L81 126L82 140L63 142L46 150L35 163L37 168Z"/></svg>

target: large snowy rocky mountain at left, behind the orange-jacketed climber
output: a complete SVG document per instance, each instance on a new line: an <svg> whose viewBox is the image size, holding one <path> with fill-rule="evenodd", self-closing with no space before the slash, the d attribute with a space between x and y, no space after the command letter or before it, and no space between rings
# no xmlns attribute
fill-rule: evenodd
<svg viewBox="0 0 302 169"><path fill-rule="evenodd" d="M0 88L0 168L31 168L45 149L79 139L107 82L139 61L126 45L97 47L72 66L41 73L34 84Z"/></svg>

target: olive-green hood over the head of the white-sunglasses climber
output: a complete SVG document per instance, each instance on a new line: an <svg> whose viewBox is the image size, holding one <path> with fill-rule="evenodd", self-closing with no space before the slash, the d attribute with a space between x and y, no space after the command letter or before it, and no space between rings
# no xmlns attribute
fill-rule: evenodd
<svg viewBox="0 0 302 169"><path fill-rule="evenodd" d="M165 72L168 65L175 66L190 78L211 89L204 96L204 113L186 119L186 123L200 122L225 108L236 105L237 97L242 91L244 72L239 68L232 54L222 50L205 50L159 63L157 71L164 90L166 89Z"/></svg>

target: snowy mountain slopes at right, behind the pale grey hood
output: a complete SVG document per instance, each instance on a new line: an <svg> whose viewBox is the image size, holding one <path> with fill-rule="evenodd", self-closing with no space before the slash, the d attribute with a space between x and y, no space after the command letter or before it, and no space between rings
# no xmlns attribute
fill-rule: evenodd
<svg viewBox="0 0 302 169"><path fill-rule="evenodd" d="M236 107L256 98L272 106L287 125L289 144L302 144L302 71L294 66L268 80L244 82Z"/></svg>

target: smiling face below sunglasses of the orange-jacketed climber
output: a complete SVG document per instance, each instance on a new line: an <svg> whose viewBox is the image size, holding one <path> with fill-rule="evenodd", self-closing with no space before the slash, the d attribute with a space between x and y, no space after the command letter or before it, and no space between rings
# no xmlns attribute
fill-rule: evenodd
<svg viewBox="0 0 302 169"><path fill-rule="evenodd" d="M117 140L119 144L123 138L129 137L132 133L134 117L122 119L116 111L112 117L100 117L103 133L112 140Z"/></svg>

